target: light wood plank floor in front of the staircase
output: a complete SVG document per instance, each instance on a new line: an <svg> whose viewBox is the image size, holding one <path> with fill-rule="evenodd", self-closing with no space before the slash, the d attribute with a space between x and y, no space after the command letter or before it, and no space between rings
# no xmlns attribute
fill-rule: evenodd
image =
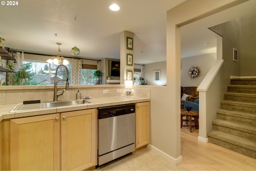
<svg viewBox="0 0 256 171"><path fill-rule="evenodd" d="M256 159L197 140L198 129L181 129L180 165L188 170L256 170Z"/></svg>

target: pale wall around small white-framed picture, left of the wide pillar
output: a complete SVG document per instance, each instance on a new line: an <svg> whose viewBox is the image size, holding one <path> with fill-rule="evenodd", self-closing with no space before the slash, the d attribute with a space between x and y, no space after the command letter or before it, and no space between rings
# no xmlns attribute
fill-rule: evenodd
<svg viewBox="0 0 256 171"><path fill-rule="evenodd" d="M154 71L160 70L160 82L154 82ZM146 64L143 67L143 75L146 78L147 85L166 85L166 61Z"/></svg>

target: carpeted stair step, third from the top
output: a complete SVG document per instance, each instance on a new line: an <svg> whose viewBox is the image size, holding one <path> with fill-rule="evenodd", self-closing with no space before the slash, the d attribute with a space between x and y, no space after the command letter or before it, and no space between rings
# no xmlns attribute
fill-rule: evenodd
<svg viewBox="0 0 256 171"><path fill-rule="evenodd" d="M256 103L256 94L226 92L224 93L224 95L225 95L225 100L228 100L228 101Z"/></svg>

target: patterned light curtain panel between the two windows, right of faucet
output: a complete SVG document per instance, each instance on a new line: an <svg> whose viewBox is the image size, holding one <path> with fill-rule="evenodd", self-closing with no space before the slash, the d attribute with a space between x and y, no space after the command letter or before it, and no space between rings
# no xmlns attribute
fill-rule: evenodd
<svg viewBox="0 0 256 171"><path fill-rule="evenodd" d="M72 58L72 85L80 85L82 76L82 60Z"/></svg>

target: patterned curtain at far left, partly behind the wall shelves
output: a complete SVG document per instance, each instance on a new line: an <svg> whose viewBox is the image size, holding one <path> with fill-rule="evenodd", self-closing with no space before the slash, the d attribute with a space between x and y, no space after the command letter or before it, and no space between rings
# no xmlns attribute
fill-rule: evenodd
<svg viewBox="0 0 256 171"><path fill-rule="evenodd" d="M15 58L16 60L9 60L9 64L12 65L14 71L18 71L20 69L20 64L21 64L21 58L20 58L20 52L12 52L12 57ZM7 73L7 83L6 85L14 85L14 74L12 72Z"/></svg>

